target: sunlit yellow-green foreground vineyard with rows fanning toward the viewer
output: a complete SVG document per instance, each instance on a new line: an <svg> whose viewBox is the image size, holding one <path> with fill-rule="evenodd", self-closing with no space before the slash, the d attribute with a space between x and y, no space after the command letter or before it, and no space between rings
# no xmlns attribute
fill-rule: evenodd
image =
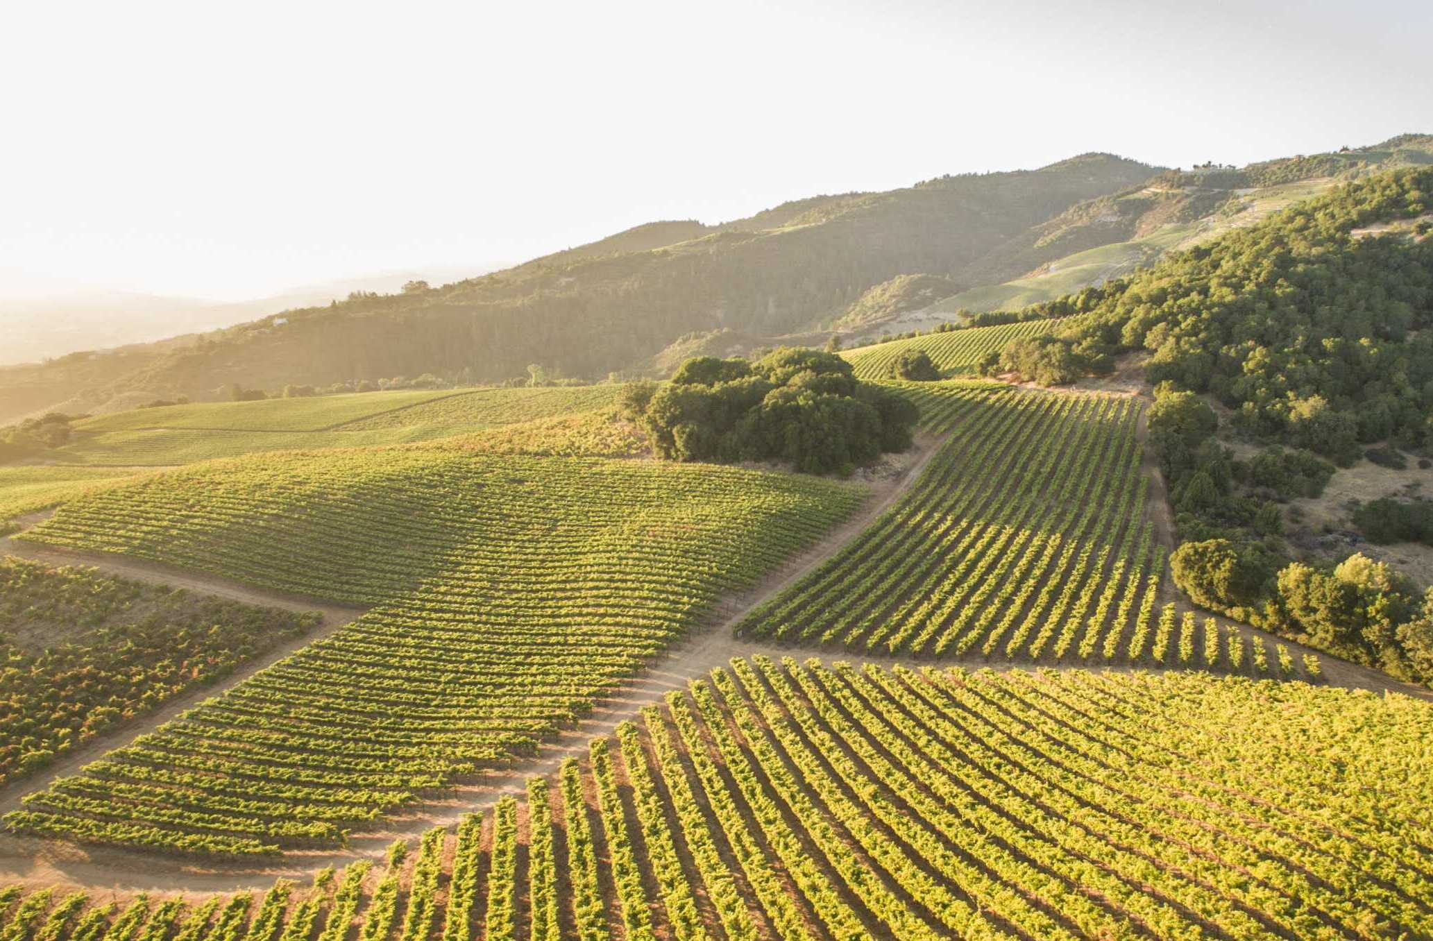
<svg viewBox="0 0 1433 941"><path fill-rule="evenodd" d="M378 864L0 887L0 937L1429 937L1430 738L1424 703L1304 683L738 659Z"/></svg>

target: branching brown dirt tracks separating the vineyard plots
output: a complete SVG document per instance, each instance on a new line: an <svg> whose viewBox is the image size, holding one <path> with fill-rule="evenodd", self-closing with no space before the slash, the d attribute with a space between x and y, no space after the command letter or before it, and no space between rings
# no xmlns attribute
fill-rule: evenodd
<svg viewBox="0 0 1433 941"><path fill-rule="evenodd" d="M120 849L82 848L57 841L42 841L30 838L16 838L0 835L0 882L24 882L33 887L43 885L72 885L87 888L92 892L113 892L128 895L136 891L153 894L186 894L203 895L212 892L231 892L244 888L264 889L277 877L304 879L325 865L342 867L361 858L381 858L384 848L394 839L411 839L431 826L451 826L464 815L484 812L504 795L522 796L526 791L526 781L532 776L552 775L569 756L586 756L588 743L596 736L612 733L623 720L635 719L638 712L648 705L655 705L671 690L685 689L691 680L706 676L711 670L724 666L737 656L767 655L772 657L794 656L805 659L820 656L825 660L848 659L853 662L871 662L890 666L893 663L910 663L910 657L876 656L868 653L844 653L835 650L814 650L810 647L778 646L759 640L738 639L732 634L732 627L739 623L755 606L781 592L788 584L828 560L840 551L851 539L878 518L890 506L907 490L920 473L926 468L937 451L939 440L926 437L919 441L917 448L906 455L904 467L887 467L887 473L870 481L874 496L844 524L835 527L817 546L805 553L788 560L785 564L770 573L759 584L748 592L728 597L708 619L704 629L695 632L684 642L674 645L668 652L656 657L649 669L635 676L610 696L598 702L580 723L556 735L545 742L535 758L520 759L509 771L494 771L480 779L459 783L457 786L434 796L428 801L401 808L396 815L383 821L381 829L357 832L350 838L350 846L342 851L315 849L292 851L277 861L259 862L214 862L214 861L182 861L171 856L155 856ZM33 526L43 516L30 517L24 523ZM43 559L59 563L96 564L106 571L125 574L129 577L179 584L195 592L222 594L238 600L291 607L298 610L322 610L324 626L315 634L310 634L282 652L274 652L262 659L262 663L251 665L239 676L232 677L222 686L206 687L203 692L185 698L182 703L172 703L156 713L150 713L133 725L126 726L119 735L92 743L59 765L52 766L46 773L27 779L19 788L0 791L0 808L10 809L19 796L37 791L59 773L72 773L79 765L92 761L103 752L128 743L135 736L153 730L160 722L172 718L195 702L214 696L225 687L239 682L244 676L262 669L288 652L324 636L353 620L361 612L355 609L324 606L307 599L295 599L257 590L252 586L238 584L225 579L196 574L139 561L120 556L103 553L77 553L50 547L39 547L33 543L11 543L0 540L0 553L11 551L30 559ZM1245 627L1245 630L1250 630ZM1261 633L1261 632L1252 632ZM1290 642L1284 642L1290 643ZM1290 643L1298 653L1298 645ZM1358 689L1397 689L1399 692L1420 692L1390 680L1374 670L1343 663L1333 657L1323 656L1327 682L1338 686ZM960 662L941 660L941 666L956 666ZM966 662L967 667L992 669L1032 669L1037 665L1027 662L997 662L977 660ZM1040 665L1043 666L1043 665ZM1053 665L1055 669L1088 669L1083 663ZM1134 669L1119 665L1098 665L1098 669L1115 672L1131 672ZM1427 693L1427 690L1422 690ZM99 895L96 895L99 898Z"/></svg>

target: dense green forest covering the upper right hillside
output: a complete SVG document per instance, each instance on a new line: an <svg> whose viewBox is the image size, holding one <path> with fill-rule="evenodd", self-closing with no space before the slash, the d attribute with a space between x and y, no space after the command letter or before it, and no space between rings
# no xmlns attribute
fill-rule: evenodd
<svg viewBox="0 0 1433 941"><path fill-rule="evenodd" d="M1062 299L1080 355L1149 351L1151 382L1337 463L1433 440L1433 239L1354 229L1433 206L1433 169L1383 173Z"/></svg>

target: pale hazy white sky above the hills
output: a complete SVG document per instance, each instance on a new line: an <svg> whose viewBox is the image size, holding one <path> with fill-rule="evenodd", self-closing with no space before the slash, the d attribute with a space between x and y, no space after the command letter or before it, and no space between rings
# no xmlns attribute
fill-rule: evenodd
<svg viewBox="0 0 1433 941"><path fill-rule="evenodd" d="M1357 146L1433 132L1430 36L1426 0L17 3L0 266L238 299L1085 150Z"/></svg>

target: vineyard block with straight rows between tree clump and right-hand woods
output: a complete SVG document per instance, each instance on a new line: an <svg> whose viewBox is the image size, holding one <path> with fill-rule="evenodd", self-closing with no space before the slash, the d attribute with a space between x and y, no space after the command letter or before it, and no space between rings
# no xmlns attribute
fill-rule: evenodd
<svg viewBox="0 0 1433 941"><path fill-rule="evenodd" d="M913 384L914 387L914 384ZM917 392L921 394L921 392ZM936 387L952 437L901 501L754 610L744 636L919 656L1317 675L1159 604L1139 405L1113 395ZM1247 653L1245 653L1247 649Z"/></svg>

